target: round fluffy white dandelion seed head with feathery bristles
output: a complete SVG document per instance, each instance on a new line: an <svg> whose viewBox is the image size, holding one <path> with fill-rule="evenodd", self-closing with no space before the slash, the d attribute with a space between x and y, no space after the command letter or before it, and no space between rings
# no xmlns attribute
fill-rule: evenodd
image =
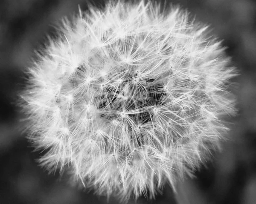
<svg viewBox="0 0 256 204"><path fill-rule="evenodd" d="M99 195L153 196L219 147L236 76L186 11L108 3L63 20L29 68L22 106L41 165Z"/></svg>

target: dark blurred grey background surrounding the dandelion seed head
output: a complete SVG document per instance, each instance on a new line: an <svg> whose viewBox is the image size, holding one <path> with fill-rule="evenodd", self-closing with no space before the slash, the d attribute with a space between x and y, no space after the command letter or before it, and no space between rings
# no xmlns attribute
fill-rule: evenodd
<svg viewBox="0 0 256 204"><path fill-rule="evenodd" d="M48 175L38 167L39 152L18 127L22 115L15 106L25 84L24 70L34 50L55 34L61 17L87 9L87 0L0 1L0 204L105 204L93 192L77 190L66 176ZM104 6L104 0L91 1ZM229 140L196 177L177 184L177 194L166 186L156 200L137 204L256 204L256 2L254 0L169 0L188 9L223 39L227 54L241 75L239 115L231 118ZM117 201L111 198L110 204ZM135 203L134 200L129 204Z"/></svg>

